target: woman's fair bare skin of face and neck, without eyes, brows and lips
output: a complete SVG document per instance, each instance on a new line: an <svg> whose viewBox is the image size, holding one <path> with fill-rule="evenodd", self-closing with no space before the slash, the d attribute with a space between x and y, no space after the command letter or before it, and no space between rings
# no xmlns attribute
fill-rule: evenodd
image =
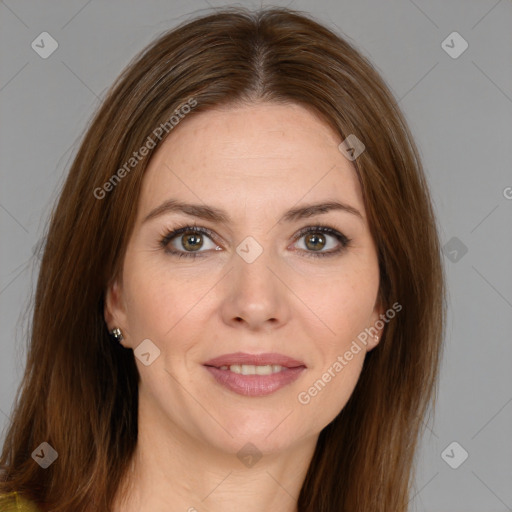
<svg viewBox="0 0 512 512"><path fill-rule="evenodd" d="M139 439L114 510L297 510L318 435L345 406L378 339L370 337L307 405L298 394L383 312L376 248L340 142L301 106L255 103L189 115L153 156L122 275L106 296L107 325L121 328L123 345L135 349L150 339L161 351L149 366L136 359ZM230 220L171 212L144 222L171 197L222 208ZM331 210L278 222L291 208L327 200L356 208L361 218ZM202 235L199 257L166 253L161 238L194 224L215 234ZM311 234L294 235L318 225L346 235L349 246L314 257L306 245ZM236 252L247 236L263 248L252 263ZM324 236L320 252L341 246ZM186 235L171 247L193 252L182 242ZM242 396L203 366L237 351L279 352L307 369L271 395ZM252 467L237 457L249 442L262 455Z"/></svg>

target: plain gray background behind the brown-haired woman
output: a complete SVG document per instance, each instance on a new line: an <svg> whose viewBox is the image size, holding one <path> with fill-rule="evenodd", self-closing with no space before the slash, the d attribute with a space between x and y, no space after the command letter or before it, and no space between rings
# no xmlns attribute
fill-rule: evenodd
<svg viewBox="0 0 512 512"><path fill-rule="evenodd" d="M87 121L128 60L155 36L209 5L228 3L0 2L0 428L9 422L22 375L36 249ZM355 42L382 73L420 148L448 244L446 349L410 510L511 511L512 2L274 5L310 12ZM44 31L59 45L47 59L31 47ZM453 31L469 44L455 59L442 47ZM444 452L453 441L460 447ZM452 469L445 460L460 463L462 450L469 457Z"/></svg>

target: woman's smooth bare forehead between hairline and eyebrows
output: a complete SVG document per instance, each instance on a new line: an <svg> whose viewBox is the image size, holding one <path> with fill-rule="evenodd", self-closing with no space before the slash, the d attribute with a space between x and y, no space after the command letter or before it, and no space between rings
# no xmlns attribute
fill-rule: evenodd
<svg viewBox="0 0 512 512"><path fill-rule="evenodd" d="M191 114L174 127L143 180L141 215L169 196L269 209L326 197L364 215L355 169L341 138L308 109L251 104Z"/></svg>

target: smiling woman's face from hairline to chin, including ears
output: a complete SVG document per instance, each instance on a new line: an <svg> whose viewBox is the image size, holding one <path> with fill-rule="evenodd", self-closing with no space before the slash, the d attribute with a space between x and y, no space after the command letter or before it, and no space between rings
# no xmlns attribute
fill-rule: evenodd
<svg viewBox="0 0 512 512"><path fill-rule="evenodd" d="M345 406L377 343L357 337L381 310L376 249L340 142L303 107L260 103L190 114L153 156L106 303L109 328L138 356L146 425L224 452L248 442L271 452L316 437ZM347 208L302 210L333 202ZM169 235L186 226L207 232ZM205 366L238 352L302 367L245 376Z"/></svg>

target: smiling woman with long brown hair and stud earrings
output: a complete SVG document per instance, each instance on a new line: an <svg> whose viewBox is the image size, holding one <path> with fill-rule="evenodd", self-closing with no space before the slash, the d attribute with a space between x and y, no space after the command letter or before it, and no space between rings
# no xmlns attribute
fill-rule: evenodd
<svg viewBox="0 0 512 512"><path fill-rule="evenodd" d="M286 9L164 34L53 212L5 502L405 512L444 288L406 123Z"/></svg>

